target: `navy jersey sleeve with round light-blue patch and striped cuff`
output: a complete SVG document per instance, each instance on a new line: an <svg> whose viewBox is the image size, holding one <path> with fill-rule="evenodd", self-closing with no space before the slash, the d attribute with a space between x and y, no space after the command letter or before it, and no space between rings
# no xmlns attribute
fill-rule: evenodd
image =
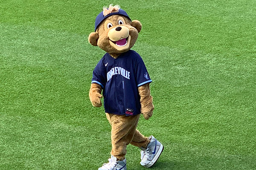
<svg viewBox="0 0 256 170"><path fill-rule="evenodd" d="M137 87L140 87L141 85L152 82L152 80L149 77L146 66L143 62L143 59L141 57L137 59L136 68L135 68L135 79L136 79Z"/></svg>

